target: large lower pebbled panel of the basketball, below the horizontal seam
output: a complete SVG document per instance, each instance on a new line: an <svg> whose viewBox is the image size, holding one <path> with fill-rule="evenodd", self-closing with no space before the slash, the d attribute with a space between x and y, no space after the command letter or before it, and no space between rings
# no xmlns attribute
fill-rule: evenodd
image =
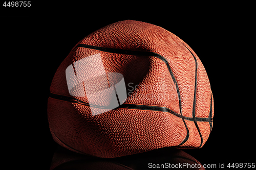
<svg viewBox="0 0 256 170"><path fill-rule="evenodd" d="M186 136L182 118L167 112L122 108L92 116L88 106L52 98L48 107L51 131L60 139L57 142L98 157L175 146Z"/></svg>

